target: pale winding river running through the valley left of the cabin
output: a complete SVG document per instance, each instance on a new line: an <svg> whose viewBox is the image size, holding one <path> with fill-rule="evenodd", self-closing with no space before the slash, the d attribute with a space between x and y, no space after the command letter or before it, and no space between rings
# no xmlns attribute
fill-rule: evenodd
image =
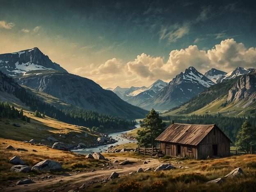
<svg viewBox="0 0 256 192"><path fill-rule="evenodd" d="M139 128L139 124L135 125L135 127L136 127L135 129ZM134 129L132 129L132 130L134 130ZM115 142L115 143L106 144L106 145L102 145L102 146L97 146L97 147L94 147L94 148L74 149L74 150L71 150L71 151L74 152L74 153L80 153L80 154L89 154L89 153L93 153L93 152L94 153L96 153L96 152L104 153L106 151L105 149L108 149L108 147L110 147L111 145L114 146L116 144L120 145L120 144L126 144L126 143L130 143L130 142L137 142L137 141L130 141L126 138L120 137L121 134L129 133L132 130L126 130L126 131L122 131L122 132L116 132L116 133L108 134L108 136L117 140L117 142Z"/></svg>

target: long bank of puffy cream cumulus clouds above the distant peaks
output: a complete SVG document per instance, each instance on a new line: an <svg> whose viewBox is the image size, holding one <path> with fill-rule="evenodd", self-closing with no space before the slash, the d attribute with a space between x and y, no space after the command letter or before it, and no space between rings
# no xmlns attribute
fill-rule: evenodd
<svg viewBox="0 0 256 192"><path fill-rule="evenodd" d="M166 62L163 57L142 53L127 63L113 58L100 65L91 64L75 69L73 73L90 78L105 87L149 86L158 79L169 82L189 66L194 66L201 73L212 68L230 72L237 66L254 68L255 61L256 48L245 48L243 43L226 39L208 51L199 50L196 45L172 50Z"/></svg>

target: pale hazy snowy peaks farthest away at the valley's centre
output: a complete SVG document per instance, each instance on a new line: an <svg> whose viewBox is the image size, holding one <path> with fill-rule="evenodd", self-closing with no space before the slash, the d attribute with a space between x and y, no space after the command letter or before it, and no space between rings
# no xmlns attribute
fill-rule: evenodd
<svg viewBox="0 0 256 192"><path fill-rule="evenodd" d="M113 92L117 94L124 101L139 106L144 103L146 100L155 96L163 87L167 86L167 82L162 80L157 80L149 87L130 87L130 88L121 88L117 86Z"/></svg>

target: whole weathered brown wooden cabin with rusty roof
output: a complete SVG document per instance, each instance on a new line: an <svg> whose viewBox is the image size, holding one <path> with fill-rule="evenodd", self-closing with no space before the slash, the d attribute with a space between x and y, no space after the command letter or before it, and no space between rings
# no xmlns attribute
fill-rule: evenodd
<svg viewBox="0 0 256 192"><path fill-rule="evenodd" d="M173 123L156 139L164 155L206 159L230 155L231 140L215 124Z"/></svg>

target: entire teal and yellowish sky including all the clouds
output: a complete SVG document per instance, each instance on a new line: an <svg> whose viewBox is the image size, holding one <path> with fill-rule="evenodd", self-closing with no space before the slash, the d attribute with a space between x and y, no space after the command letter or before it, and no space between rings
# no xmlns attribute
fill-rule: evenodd
<svg viewBox="0 0 256 192"><path fill-rule="evenodd" d="M0 54L38 47L103 88L256 68L253 0L0 0Z"/></svg>

